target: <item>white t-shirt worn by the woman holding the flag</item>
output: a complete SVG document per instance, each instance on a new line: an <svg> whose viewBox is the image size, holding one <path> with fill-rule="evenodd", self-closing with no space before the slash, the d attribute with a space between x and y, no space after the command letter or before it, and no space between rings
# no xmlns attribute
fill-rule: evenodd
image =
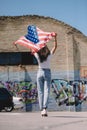
<svg viewBox="0 0 87 130"><path fill-rule="evenodd" d="M38 61L40 69L50 69L50 62L51 62L52 54L48 55L46 61L43 61L43 62L40 62L40 58L39 58L39 55L37 53L35 53L34 56L36 57L36 59Z"/></svg>

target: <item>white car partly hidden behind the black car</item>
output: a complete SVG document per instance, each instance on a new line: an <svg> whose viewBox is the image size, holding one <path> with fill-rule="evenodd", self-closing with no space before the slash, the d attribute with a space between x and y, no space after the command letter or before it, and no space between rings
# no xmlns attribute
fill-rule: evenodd
<svg viewBox="0 0 87 130"><path fill-rule="evenodd" d="M21 97L13 96L13 102L14 102L14 109L18 109L18 108L23 108L24 107L23 99Z"/></svg>

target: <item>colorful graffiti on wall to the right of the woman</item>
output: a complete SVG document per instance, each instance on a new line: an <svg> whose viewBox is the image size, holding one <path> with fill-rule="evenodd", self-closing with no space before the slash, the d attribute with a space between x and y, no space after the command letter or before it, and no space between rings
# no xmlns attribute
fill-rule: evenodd
<svg viewBox="0 0 87 130"><path fill-rule="evenodd" d="M66 81L62 79L52 80L52 92L58 105L81 105L87 100L87 81ZM77 110L76 110L77 111Z"/></svg>

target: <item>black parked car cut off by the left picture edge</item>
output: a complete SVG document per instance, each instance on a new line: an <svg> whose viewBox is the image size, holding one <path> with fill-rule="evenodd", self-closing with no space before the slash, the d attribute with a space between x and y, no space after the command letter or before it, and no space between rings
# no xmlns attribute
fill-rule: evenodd
<svg viewBox="0 0 87 130"><path fill-rule="evenodd" d="M11 112L14 109L13 96L6 88L0 88L0 111Z"/></svg>

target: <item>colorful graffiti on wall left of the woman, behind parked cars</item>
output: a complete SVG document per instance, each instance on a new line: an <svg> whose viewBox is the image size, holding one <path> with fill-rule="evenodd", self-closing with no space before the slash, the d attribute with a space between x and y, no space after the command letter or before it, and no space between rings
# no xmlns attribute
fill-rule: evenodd
<svg viewBox="0 0 87 130"><path fill-rule="evenodd" d="M13 96L22 97L24 103L37 102L37 86L35 83L29 81L0 81L0 87L7 88Z"/></svg>

